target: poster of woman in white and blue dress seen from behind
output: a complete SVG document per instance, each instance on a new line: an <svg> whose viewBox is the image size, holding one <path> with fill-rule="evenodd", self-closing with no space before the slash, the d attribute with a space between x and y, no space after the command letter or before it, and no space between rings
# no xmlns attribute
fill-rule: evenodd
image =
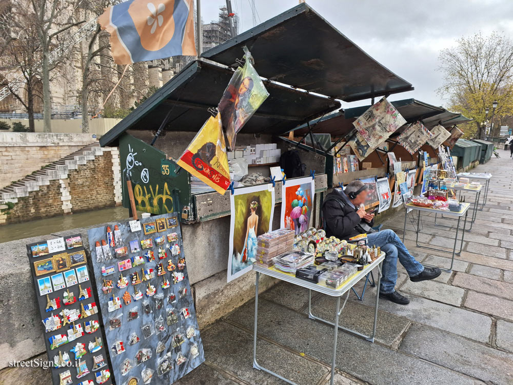
<svg viewBox="0 0 513 385"><path fill-rule="evenodd" d="M272 184L236 188L230 194L230 208L228 282L251 270L257 256L257 237L272 230Z"/></svg>

